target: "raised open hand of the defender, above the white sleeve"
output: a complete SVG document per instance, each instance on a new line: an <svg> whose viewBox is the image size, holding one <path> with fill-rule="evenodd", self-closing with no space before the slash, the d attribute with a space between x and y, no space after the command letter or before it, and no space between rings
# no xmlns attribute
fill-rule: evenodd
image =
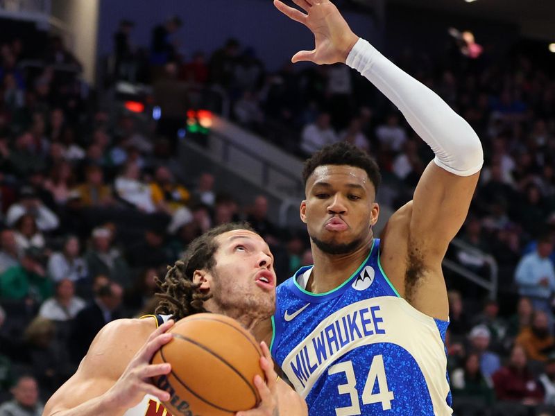
<svg viewBox="0 0 555 416"><path fill-rule="evenodd" d="M334 3L330 0L293 0L306 13L273 0L273 4L284 15L304 24L314 34L315 48L299 51L291 62L309 61L316 64L345 62L352 46L359 37L353 33Z"/></svg>

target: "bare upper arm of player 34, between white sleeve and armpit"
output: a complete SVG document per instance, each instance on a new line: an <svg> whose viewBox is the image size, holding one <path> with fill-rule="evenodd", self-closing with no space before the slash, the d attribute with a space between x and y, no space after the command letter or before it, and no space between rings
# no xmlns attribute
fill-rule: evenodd
<svg viewBox="0 0 555 416"><path fill-rule="evenodd" d="M479 173L458 176L430 162L416 187L409 246L441 261L468 214Z"/></svg>

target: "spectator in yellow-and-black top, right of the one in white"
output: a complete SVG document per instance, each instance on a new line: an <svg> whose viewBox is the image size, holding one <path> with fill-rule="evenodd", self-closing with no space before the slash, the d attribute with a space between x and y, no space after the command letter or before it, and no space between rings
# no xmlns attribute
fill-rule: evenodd
<svg viewBox="0 0 555 416"><path fill-rule="evenodd" d="M154 181L151 182L151 195L158 209L170 215L189 201L189 191L176 182L166 166L156 168Z"/></svg>

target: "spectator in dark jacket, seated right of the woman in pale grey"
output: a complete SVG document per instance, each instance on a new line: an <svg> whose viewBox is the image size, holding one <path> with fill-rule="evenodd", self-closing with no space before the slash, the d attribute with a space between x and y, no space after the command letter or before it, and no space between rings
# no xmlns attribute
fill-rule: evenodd
<svg viewBox="0 0 555 416"><path fill-rule="evenodd" d="M129 266L117 248L112 247L112 232L105 227L92 230L92 248L85 254L89 275L105 275L121 284L130 286Z"/></svg>

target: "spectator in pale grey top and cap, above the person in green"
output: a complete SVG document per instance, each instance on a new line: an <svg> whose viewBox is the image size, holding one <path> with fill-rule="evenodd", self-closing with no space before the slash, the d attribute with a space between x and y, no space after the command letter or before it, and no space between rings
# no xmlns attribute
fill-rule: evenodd
<svg viewBox="0 0 555 416"><path fill-rule="evenodd" d="M58 220L56 214L42 203L37 197L35 189L31 187L23 187L19 192L19 202L8 209L6 213L8 227L13 227L24 214L32 215L37 222L38 229L42 232L52 231L60 225L60 220Z"/></svg>

